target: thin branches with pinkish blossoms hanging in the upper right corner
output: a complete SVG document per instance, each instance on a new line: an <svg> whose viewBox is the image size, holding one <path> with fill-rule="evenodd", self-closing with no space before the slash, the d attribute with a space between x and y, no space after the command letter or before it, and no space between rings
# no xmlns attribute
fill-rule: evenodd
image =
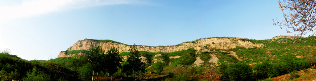
<svg viewBox="0 0 316 81"><path fill-rule="evenodd" d="M287 33L299 32L299 36L309 32L313 35L316 33L315 0L283 0L279 1L279 6L283 12L283 21L273 20L273 25L278 25L281 29L292 29L293 31L287 30ZM289 14L284 10L289 10Z"/></svg>

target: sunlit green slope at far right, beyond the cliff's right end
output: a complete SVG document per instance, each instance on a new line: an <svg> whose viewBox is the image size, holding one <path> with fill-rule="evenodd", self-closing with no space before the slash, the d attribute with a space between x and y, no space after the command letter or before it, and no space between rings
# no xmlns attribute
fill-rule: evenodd
<svg viewBox="0 0 316 81"><path fill-rule="evenodd" d="M263 47L243 48L237 47L230 49L238 55L239 58L248 63L258 63L270 61L272 63L284 62L286 58L296 56L309 57L315 56L316 50L315 37L309 38L278 38L276 40L257 40L254 43L263 43Z"/></svg>

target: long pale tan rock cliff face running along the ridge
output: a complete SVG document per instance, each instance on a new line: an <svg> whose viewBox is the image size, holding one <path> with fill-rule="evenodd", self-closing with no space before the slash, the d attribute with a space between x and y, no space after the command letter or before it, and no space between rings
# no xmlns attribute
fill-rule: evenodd
<svg viewBox="0 0 316 81"><path fill-rule="evenodd" d="M138 46L138 51L149 51L149 52L174 52L187 50L189 48L193 48L195 50L204 49L205 46L208 48L216 48L216 49L230 49L235 48L236 46L241 46L245 48L252 48L253 46L261 47L263 44L253 44L250 41L242 41L240 38L210 38L210 39L200 39L195 42L182 43L179 46L163 46L163 47L153 47L153 46ZM105 51L110 50L111 47L119 47L119 52L128 52L130 46L126 46L124 44L112 43L112 42L97 42L95 40L78 40L73 46L68 48L68 51L71 50L90 50L94 45L103 46L102 48ZM63 52L59 53L58 57L70 57L70 55L66 56Z"/></svg>

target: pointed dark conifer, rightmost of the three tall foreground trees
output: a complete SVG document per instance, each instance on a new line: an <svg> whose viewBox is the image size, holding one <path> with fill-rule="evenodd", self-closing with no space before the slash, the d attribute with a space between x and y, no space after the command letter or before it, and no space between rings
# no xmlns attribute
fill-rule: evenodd
<svg viewBox="0 0 316 81"><path fill-rule="evenodd" d="M127 74L136 73L136 75L139 75L139 72L144 73L145 71L145 63L142 62L142 58L140 58L142 55L137 50L137 46L134 44L133 46L130 46L129 49L131 55L126 59L126 63L123 66L123 71ZM138 76L137 76L138 78Z"/></svg>

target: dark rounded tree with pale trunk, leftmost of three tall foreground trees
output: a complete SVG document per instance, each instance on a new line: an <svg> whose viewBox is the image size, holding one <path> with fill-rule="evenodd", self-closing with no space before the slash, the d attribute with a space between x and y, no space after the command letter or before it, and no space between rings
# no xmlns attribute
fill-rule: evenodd
<svg viewBox="0 0 316 81"><path fill-rule="evenodd" d="M87 61L91 63L91 69L93 70L92 73L92 80L95 72L100 72L101 70L105 70L103 67L105 67L105 54L104 50L102 49L102 46L93 46L90 51L85 56Z"/></svg>

